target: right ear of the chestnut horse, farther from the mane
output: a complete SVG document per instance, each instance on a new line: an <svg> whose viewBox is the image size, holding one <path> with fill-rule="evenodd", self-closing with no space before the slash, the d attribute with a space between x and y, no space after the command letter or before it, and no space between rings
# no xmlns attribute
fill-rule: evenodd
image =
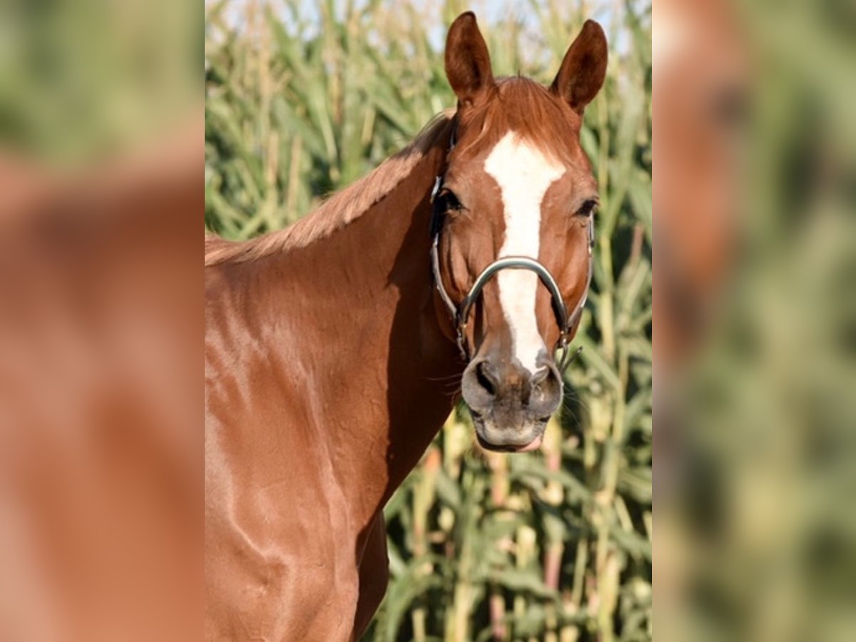
<svg viewBox="0 0 856 642"><path fill-rule="evenodd" d="M587 20L574 40L550 90L564 98L580 116L597 95L606 77L606 36L595 21Z"/></svg>

